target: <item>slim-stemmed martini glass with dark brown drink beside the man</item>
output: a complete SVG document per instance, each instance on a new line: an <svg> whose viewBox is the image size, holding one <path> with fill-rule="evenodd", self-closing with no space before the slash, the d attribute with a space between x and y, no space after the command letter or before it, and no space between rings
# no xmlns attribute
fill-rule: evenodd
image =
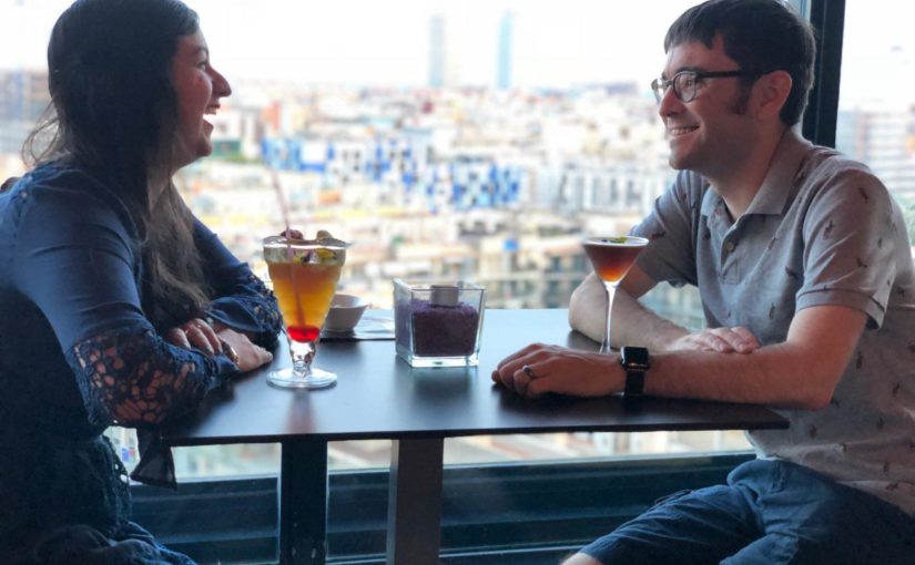
<svg viewBox="0 0 915 565"><path fill-rule="evenodd" d="M607 292L607 321L603 328L603 343L600 346L601 353L610 353L610 312L613 309L613 297L617 295L617 286L629 273L636 263L636 257L648 245L644 237L634 236L601 236L584 239L584 253L591 259L594 273L603 282Z"/></svg>

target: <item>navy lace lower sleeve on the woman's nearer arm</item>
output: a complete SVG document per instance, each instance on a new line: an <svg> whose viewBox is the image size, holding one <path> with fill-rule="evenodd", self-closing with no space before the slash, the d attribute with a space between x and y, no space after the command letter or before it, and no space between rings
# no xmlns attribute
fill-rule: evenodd
<svg viewBox="0 0 915 565"><path fill-rule="evenodd" d="M68 352L89 420L142 427L190 411L207 391L237 373L225 356L212 358L167 345L149 327L106 331Z"/></svg>

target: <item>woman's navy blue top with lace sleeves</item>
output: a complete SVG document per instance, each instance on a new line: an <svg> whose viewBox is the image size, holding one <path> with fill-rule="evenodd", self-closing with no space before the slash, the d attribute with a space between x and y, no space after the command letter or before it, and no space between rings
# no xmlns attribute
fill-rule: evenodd
<svg viewBox="0 0 915 565"><path fill-rule="evenodd" d="M273 294L196 219L194 238L207 314L273 348ZM159 336L140 245L116 192L75 166L39 166L0 194L0 546L67 524L124 527L128 477L102 431L154 430L238 372Z"/></svg>

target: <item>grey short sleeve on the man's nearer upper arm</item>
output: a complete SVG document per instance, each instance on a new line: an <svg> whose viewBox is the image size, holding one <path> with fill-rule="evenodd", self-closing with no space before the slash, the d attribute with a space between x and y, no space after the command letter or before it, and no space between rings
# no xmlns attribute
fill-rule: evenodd
<svg viewBox="0 0 915 565"><path fill-rule="evenodd" d="M844 167L825 176L803 226L804 284L796 308L847 306L867 314L868 327L880 327L905 224L870 172Z"/></svg>

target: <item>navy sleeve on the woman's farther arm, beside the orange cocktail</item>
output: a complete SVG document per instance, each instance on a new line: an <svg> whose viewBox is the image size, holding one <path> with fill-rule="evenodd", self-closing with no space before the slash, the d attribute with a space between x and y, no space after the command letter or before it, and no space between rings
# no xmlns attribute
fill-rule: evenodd
<svg viewBox="0 0 915 565"><path fill-rule="evenodd" d="M253 335L262 347L276 347L283 317L273 292L197 218L194 218L194 239L215 294L207 314L226 326Z"/></svg>

